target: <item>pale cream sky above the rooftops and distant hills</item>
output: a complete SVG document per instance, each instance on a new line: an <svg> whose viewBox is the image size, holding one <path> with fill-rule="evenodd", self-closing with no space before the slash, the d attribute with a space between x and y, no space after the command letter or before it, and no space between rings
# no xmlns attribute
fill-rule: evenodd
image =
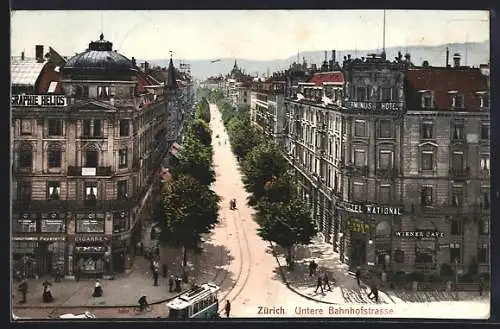
<svg viewBox="0 0 500 329"><path fill-rule="evenodd" d="M298 51L381 49L383 10L13 11L11 55L63 56L104 38L131 58L285 59ZM387 10L386 47L489 40L487 11Z"/></svg>

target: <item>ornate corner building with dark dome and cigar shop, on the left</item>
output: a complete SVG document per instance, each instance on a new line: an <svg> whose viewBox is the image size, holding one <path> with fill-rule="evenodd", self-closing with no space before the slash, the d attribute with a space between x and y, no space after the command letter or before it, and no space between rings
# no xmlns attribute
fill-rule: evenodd
<svg viewBox="0 0 500 329"><path fill-rule="evenodd" d="M58 71L60 89L38 95L14 89L13 72L14 265L28 275L122 272L167 151L164 88L102 34Z"/></svg>

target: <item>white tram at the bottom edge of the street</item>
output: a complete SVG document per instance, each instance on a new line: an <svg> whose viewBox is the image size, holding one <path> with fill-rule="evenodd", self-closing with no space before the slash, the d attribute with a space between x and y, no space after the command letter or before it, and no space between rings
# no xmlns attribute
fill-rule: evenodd
<svg viewBox="0 0 500 329"><path fill-rule="evenodd" d="M170 320L217 318L219 315L219 286L205 283L195 286L169 301L166 306Z"/></svg>

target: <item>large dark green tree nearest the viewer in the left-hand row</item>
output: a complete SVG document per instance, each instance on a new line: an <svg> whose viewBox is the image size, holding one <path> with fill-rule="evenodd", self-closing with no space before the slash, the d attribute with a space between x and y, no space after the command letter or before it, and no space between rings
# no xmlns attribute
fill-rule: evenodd
<svg viewBox="0 0 500 329"><path fill-rule="evenodd" d="M164 185L162 191L164 223L160 242L183 249L183 267L187 251L201 252L202 235L218 223L219 196L196 179L180 175Z"/></svg>

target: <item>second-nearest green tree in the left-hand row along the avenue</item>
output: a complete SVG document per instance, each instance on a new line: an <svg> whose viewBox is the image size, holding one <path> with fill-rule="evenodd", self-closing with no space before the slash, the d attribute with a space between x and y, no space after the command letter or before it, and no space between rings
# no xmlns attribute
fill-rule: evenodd
<svg viewBox="0 0 500 329"><path fill-rule="evenodd" d="M180 175L189 175L203 185L212 184L215 181L212 147L205 146L193 135L188 134L182 142L178 159L173 163L171 171L174 179Z"/></svg>

